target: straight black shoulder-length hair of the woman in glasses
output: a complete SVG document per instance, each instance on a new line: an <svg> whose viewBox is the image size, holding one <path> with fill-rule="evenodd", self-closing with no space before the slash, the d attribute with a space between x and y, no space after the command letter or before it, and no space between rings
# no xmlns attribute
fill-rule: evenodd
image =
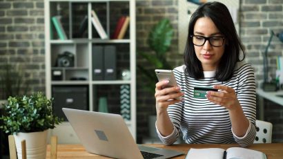
<svg viewBox="0 0 283 159"><path fill-rule="evenodd" d="M190 35L193 35L193 28L197 19L202 17L210 18L218 30L225 37L225 50L222 55L219 65L215 73L215 79L220 82L228 81L233 75L235 65L237 62L243 61L246 57L244 47L237 35L233 19L228 8L219 2L208 2L199 6L193 13L190 23L188 25L188 38L186 41L186 48L184 50L184 62L186 64L186 73L195 79L204 78L202 64L195 55L193 40ZM240 49L243 57L240 59Z"/></svg>

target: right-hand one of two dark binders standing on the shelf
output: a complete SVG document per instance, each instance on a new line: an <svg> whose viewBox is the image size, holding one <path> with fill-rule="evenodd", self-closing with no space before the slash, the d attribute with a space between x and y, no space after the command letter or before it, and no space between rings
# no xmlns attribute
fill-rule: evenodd
<svg viewBox="0 0 283 159"><path fill-rule="evenodd" d="M116 47L104 46L104 79L116 79Z"/></svg>

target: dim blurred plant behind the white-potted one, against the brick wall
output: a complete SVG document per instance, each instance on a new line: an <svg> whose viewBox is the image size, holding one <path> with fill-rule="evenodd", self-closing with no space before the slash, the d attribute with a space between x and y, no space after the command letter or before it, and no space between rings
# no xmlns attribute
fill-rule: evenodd
<svg viewBox="0 0 283 159"><path fill-rule="evenodd" d="M0 70L0 99L7 100L10 96L26 94L29 84L23 77L22 66L3 64Z"/></svg>

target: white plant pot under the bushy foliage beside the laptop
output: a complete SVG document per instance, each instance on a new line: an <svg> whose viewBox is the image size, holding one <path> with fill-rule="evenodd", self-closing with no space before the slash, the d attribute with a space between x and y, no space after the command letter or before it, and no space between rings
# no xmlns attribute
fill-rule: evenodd
<svg viewBox="0 0 283 159"><path fill-rule="evenodd" d="M32 133L17 133L17 135L14 135L18 158L22 158L22 140L26 140L26 157L28 159L46 158L47 133L48 130Z"/></svg>

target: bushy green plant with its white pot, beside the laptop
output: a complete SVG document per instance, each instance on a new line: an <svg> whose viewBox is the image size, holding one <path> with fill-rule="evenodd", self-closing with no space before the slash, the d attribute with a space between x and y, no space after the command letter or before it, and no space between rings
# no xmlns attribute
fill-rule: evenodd
<svg viewBox="0 0 283 159"><path fill-rule="evenodd" d="M0 128L14 135L18 158L21 158L21 140L26 140L28 158L46 158L47 130L63 121L54 115L52 100L40 92L8 98L0 117L3 122Z"/></svg>

